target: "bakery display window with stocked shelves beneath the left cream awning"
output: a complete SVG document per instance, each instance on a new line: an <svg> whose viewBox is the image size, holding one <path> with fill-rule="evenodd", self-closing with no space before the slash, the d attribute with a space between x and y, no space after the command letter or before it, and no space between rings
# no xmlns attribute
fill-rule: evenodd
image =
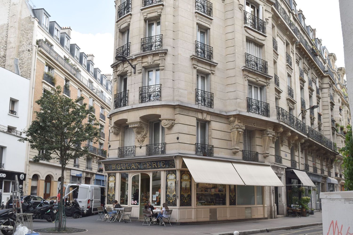
<svg viewBox="0 0 353 235"><path fill-rule="evenodd" d="M198 206L226 205L226 185L196 184L196 200Z"/></svg>

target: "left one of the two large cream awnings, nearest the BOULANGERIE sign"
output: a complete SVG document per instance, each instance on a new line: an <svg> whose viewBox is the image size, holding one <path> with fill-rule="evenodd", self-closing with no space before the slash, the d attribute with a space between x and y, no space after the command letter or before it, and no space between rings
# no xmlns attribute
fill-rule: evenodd
<svg viewBox="0 0 353 235"><path fill-rule="evenodd" d="M183 157L195 183L244 185L229 161Z"/></svg>

